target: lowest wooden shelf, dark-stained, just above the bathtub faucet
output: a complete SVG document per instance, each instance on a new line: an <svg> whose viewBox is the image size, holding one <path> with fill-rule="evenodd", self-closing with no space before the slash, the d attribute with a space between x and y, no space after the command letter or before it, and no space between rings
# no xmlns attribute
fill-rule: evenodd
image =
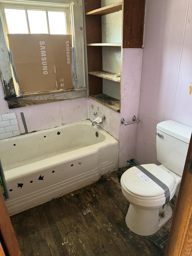
<svg viewBox="0 0 192 256"><path fill-rule="evenodd" d="M110 97L110 96L102 93L102 94L97 94L97 95L89 95L89 98L91 98L95 101L98 101L101 104L119 112L120 101L113 97Z"/></svg>

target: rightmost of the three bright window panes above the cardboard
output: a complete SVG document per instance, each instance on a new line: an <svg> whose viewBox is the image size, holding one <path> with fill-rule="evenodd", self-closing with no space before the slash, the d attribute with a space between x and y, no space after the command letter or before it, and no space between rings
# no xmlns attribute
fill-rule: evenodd
<svg viewBox="0 0 192 256"><path fill-rule="evenodd" d="M54 35L67 35L65 12L48 11L49 32Z"/></svg>

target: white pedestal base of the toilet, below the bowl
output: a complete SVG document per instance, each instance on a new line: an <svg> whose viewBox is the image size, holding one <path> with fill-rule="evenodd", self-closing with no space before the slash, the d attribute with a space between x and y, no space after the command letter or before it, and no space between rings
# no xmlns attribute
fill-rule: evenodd
<svg viewBox="0 0 192 256"><path fill-rule="evenodd" d="M141 236L150 236L156 233L164 224L172 217L172 209L170 205L160 212L164 213L164 217L160 215L159 209L141 209L130 204L127 215L125 217L128 228Z"/></svg>

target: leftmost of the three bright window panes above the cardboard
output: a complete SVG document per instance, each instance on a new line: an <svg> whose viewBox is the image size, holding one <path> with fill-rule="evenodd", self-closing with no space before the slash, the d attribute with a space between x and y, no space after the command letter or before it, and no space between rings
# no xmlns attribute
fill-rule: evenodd
<svg viewBox="0 0 192 256"><path fill-rule="evenodd" d="M25 10L4 9L9 34L28 34Z"/></svg>

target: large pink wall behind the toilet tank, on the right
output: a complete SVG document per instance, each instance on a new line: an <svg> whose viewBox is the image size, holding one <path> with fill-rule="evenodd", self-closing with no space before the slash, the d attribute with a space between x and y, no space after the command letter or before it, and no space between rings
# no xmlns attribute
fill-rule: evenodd
<svg viewBox="0 0 192 256"><path fill-rule="evenodd" d="M156 125L192 126L192 0L147 0L135 160L156 163Z"/></svg>

